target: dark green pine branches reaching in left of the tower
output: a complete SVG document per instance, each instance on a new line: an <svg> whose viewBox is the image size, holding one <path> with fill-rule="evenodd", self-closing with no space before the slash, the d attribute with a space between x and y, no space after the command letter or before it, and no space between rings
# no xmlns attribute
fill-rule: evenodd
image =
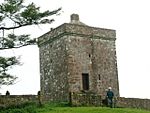
<svg viewBox="0 0 150 113"><path fill-rule="evenodd" d="M50 19L50 17L57 15L60 10L61 8L41 12L40 7L37 7L34 3L25 5L24 0L4 0L3 3L0 4L0 31L3 33L3 36L0 37L0 50L37 44L36 38L32 39L28 34L18 36L11 33L5 36L4 31L31 25L51 24L54 19ZM9 24L7 25L8 21ZM14 83L17 77L9 74L8 70L19 64L19 59L15 56L0 56L0 86Z"/></svg>

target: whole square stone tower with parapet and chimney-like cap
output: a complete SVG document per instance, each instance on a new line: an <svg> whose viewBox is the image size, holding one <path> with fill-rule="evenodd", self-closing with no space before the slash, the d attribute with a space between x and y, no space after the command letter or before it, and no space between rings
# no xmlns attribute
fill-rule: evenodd
<svg viewBox="0 0 150 113"><path fill-rule="evenodd" d="M52 101L68 101L69 92L119 96L116 32L80 22L77 14L38 38L41 92Z"/></svg>

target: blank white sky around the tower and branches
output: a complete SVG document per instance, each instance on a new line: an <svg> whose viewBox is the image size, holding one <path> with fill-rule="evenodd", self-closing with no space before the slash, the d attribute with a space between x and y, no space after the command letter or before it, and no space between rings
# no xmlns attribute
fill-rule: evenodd
<svg viewBox="0 0 150 113"><path fill-rule="evenodd" d="M93 27L116 30L116 51L121 97L150 99L150 1L149 0L25 0L41 10L62 7L61 15L53 16L50 25L25 27L16 34L29 33L39 37L63 23L70 15L79 14L80 21ZM5 55L21 56L22 66L11 70L18 76L15 85L3 86L0 93L37 94L40 90L39 50L37 46L3 51Z"/></svg>

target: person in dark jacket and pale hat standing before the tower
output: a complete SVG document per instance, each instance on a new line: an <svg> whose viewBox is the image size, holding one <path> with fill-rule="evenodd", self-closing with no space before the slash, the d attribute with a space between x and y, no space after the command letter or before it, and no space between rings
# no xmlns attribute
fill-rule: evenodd
<svg viewBox="0 0 150 113"><path fill-rule="evenodd" d="M113 98L114 98L114 93L112 91L112 88L109 87L107 91L107 103L109 107L113 107Z"/></svg>

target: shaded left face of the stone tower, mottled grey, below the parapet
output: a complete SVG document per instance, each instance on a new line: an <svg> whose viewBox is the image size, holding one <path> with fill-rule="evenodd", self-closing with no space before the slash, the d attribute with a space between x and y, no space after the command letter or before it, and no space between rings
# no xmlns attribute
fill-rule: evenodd
<svg viewBox="0 0 150 113"><path fill-rule="evenodd" d="M40 47L41 92L48 101L68 101L65 38Z"/></svg>

